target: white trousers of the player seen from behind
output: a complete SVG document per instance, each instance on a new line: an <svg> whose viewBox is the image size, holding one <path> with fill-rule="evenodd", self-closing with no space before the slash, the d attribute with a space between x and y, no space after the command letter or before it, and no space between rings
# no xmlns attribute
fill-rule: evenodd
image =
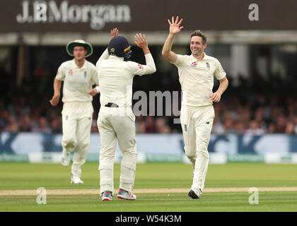
<svg viewBox="0 0 297 226"><path fill-rule="evenodd" d="M131 192L134 187L137 150L135 140L135 115L131 107L100 107L98 115L100 133L100 193L114 193L113 167L118 141L123 157L121 161L120 189Z"/></svg>

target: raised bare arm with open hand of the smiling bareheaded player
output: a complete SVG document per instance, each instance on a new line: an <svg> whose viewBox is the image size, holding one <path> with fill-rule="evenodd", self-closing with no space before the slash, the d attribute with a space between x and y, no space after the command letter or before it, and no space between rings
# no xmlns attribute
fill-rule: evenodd
<svg viewBox="0 0 297 226"><path fill-rule="evenodd" d="M177 59L177 55L175 54L175 52L171 51L171 48L173 47L173 40L175 35L180 32L182 30L182 28L184 28L183 26L180 26L180 24L182 23L183 19L180 19L180 21L178 21L178 16L175 18L174 17L171 18L171 22L170 20L168 20L169 23L169 35L164 43L163 49L162 49L162 55L163 57L165 57L166 59L168 59L168 61L170 61L171 63L175 63L176 59Z"/></svg>

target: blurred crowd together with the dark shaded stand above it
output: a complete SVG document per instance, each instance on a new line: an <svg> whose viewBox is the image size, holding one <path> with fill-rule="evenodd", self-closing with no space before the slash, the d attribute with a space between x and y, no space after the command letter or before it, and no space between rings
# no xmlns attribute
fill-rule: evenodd
<svg viewBox="0 0 297 226"><path fill-rule="evenodd" d="M22 85L18 86L16 76L8 69L7 62L0 62L0 132L62 133L62 102L58 107L50 105L55 76L53 71L61 63L59 61L54 66L48 66L54 68L52 71L46 66L36 66L32 76L26 77ZM297 134L296 84L271 76L269 81L255 79L255 75L252 77L252 80L241 78L235 86L227 71L229 87L221 97L221 102L214 103L216 117L212 133ZM214 90L218 85L216 82ZM170 74L157 70L151 76L134 78L133 90L180 91L177 69L173 67ZM98 133L99 95L94 97L93 106L91 130ZM181 133L180 124L173 123L176 118L136 117L136 133Z"/></svg>

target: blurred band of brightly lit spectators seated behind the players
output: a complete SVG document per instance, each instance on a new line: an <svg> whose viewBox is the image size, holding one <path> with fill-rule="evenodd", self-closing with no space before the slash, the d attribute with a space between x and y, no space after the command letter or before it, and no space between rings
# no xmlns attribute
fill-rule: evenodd
<svg viewBox="0 0 297 226"><path fill-rule="evenodd" d="M223 97L224 98L224 97ZM263 133L297 134L297 103L292 97L279 105L279 98L267 104L267 96L258 95L255 100L243 104L238 97L214 104L216 117L212 133L236 133L262 135ZM257 99L256 99L257 98ZM6 105L0 99L0 131L10 133L38 132L62 133L61 108L54 109L48 99L41 105L34 97L16 96ZM62 105L62 104L60 104ZM92 132L98 132L97 114L93 115ZM180 124L173 123L173 117L136 117L137 133L180 133Z"/></svg>

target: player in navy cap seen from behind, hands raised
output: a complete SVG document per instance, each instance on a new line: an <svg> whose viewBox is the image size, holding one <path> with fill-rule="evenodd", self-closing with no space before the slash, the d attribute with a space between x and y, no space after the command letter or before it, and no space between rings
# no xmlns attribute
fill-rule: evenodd
<svg viewBox="0 0 297 226"><path fill-rule="evenodd" d="M135 43L143 49L146 65L127 61L130 46L125 37L110 40L96 66L100 83L100 194L103 201L111 201L114 194L113 166L118 141L123 157L121 162L120 189L117 198L135 200L132 194L136 172L135 115L132 112L132 84L135 75L154 73L156 66L148 49L146 36L137 34Z"/></svg>

